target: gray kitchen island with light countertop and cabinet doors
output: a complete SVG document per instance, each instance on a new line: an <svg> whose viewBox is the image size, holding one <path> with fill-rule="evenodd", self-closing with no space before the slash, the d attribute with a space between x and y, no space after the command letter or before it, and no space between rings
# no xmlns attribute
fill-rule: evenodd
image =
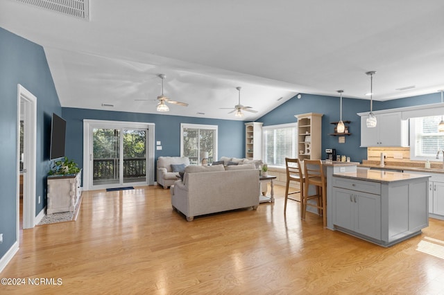
<svg viewBox="0 0 444 295"><path fill-rule="evenodd" d="M383 247L429 226L429 176L357 169L332 177L331 220L336 230Z"/></svg>

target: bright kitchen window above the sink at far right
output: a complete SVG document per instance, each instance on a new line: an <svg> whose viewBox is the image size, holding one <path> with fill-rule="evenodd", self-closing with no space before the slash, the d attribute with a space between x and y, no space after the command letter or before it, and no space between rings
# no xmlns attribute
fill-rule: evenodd
<svg viewBox="0 0 444 295"><path fill-rule="evenodd" d="M441 116L410 119L410 159L436 160L436 152L444 150L444 132L438 132Z"/></svg>

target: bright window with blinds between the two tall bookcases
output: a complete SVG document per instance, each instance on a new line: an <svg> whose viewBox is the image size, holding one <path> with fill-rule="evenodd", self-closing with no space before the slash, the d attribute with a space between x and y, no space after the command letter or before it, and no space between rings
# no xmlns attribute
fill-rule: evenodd
<svg viewBox="0 0 444 295"><path fill-rule="evenodd" d="M298 155L298 125L264 126L264 163L285 166L285 158Z"/></svg>

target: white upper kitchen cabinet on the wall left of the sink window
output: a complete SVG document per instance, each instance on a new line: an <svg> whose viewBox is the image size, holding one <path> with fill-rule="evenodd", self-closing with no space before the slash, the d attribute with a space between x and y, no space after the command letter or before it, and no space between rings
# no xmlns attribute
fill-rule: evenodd
<svg viewBox="0 0 444 295"><path fill-rule="evenodd" d="M401 112L375 114L377 125L366 125L368 115L361 116L361 147L409 146L409 123Z"/></svg>

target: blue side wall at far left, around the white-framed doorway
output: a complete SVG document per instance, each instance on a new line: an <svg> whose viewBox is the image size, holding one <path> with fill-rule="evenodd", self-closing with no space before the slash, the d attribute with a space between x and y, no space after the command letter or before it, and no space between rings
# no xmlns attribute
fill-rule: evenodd
<svg viewBox="0 0 444 295"><path fill-rule="evenodd" d="M0 257L17 241L17 84L37 97L37 214L46 206L51 114L60 115L62 108L42 46L0 28ZM37 202L39 195L41 204Z"/></svg>

